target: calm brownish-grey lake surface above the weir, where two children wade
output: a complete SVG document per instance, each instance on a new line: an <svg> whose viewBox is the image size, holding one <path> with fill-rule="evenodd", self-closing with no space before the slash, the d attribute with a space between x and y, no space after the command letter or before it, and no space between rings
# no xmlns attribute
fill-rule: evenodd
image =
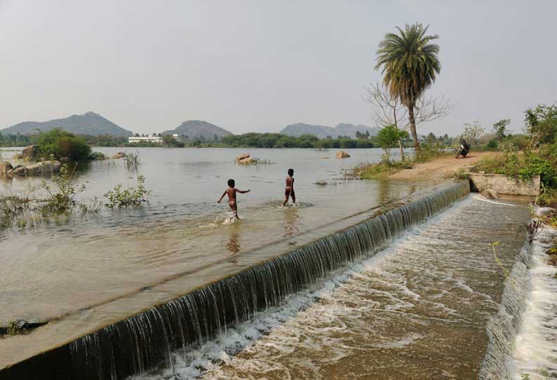
<svg viewBox="0 0 557 380"><path fill-rule="evenodd" d="M112 156L123 149L95 150ZM45 346L77 337L326 236L432 185L342 180L342 170L379 161L380 149L348 150L351 158L344 160L335 158L335 151L310 149L133 151L142 161L137 170L128 170L123 160L94 161L79 168L76 182L88 187L82 198L102 198L116 184L134 184L137 175L145 175L145 186L153 191L149 205L0 234L0 320L71 321L63 337L56 331L42 337ZM235 165L244 151L272 164ZM279 207L288 168L295 170L296 208ZM230 177L251 192L239 194L243 220L227 225L227 203L216 201ZM318 180L328 185L319 186ZM23 194L40 182L36 177L4 180L0 193ZM156 292L141 292L148 287ZM25 345L23 340L15 346ZM20 355L3 346L4 360Z"/></svg>

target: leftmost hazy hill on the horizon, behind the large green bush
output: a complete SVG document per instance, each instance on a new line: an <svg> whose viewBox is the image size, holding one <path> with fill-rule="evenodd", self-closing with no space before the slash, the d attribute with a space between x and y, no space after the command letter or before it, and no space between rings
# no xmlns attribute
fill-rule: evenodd
<svg viewBox="0 0 557 380"><path fill-rule="evenodd" d="M87 112L83 115L72 115L67 118L57 118L49 121L24 121L11 127L0 130L0 133L15 135L29 135L39 130L51 130L54 128L62 128L76 135L112 135L112 136L132 136L129 130L121 128L112 121L95 114L95 112Z"/></svg>

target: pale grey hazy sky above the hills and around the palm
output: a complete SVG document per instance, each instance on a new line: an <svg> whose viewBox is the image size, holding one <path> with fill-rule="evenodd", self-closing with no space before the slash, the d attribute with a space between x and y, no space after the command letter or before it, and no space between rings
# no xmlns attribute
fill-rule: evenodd
<svg viewBox="0 0 557 380"><path fill-rule="evenodd" d="M377 43L439 34L431 88L455 103L421 133L456 135L557 101L557 1L0 0L0 128L95 111L139 133L370 125Z"/></svg>

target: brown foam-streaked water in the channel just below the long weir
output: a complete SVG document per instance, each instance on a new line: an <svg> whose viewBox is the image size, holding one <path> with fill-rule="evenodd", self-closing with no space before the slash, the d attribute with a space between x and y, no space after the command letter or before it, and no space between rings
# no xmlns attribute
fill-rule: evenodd
<svg viewBox="0 0 557 380"><path fill-rule="evenodd" d="M509 378L485 376L483 366L505 334L488 326L496 328L502 266L520 259L528 219L523 204L469 196L321 289L196 350L176 351L172 367L138 378Z"/></svg>

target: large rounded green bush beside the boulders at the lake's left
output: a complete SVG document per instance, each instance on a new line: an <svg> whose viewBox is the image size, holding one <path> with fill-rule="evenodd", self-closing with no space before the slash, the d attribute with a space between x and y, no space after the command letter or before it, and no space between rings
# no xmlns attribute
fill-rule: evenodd
<svg viewBox="0 0 557 380"><path fill-rule="evenodd" d="M42 158L60 160L67 157L72 161L90 159L91 147L85 139L60 128L39 133L33 140L39 144L39 156Z"/></svg>

